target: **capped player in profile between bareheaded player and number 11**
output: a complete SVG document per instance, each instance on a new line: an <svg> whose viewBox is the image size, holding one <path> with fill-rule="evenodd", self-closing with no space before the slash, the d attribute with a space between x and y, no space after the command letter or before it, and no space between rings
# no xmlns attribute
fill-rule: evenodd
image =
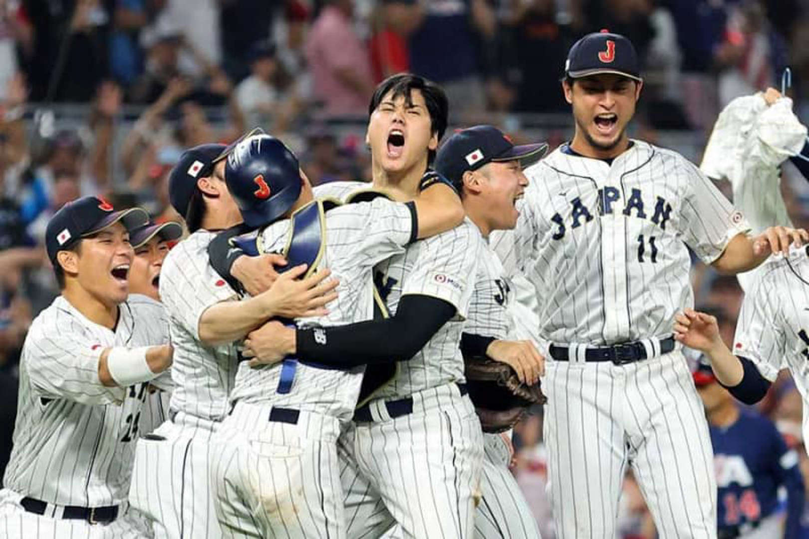
<svg viewBox="0 0 809 539"><path fill-rule="evenodd" d="M511 282L489 247L488 238L492 231L515 227L515 203L528 184L523 167L540 159L547 147L514 146L498 129L477 125L448 138L435 159L435 170L459 189L464 210L485 239L461 349L464 355L489 355L508 363L527 383L539 380L544 359L530 341L506 340L515 335L510 312ZM529 316L536 318L533 313ZM476 537L540 537L532 511L509 471L512 456L510 431L484 433Z"/></svg>

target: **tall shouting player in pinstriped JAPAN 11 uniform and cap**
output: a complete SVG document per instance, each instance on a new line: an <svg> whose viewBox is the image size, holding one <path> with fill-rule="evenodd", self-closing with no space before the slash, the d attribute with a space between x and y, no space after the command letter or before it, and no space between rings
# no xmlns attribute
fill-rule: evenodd
<svg viewBox="0 0 809 539"><path fill-rule="evenodd" d="M592 33L571 47L562 89L574 138L526 170L517 227L496 247L536 289L560 537L614 535L627 465L659 533L715 537L708 428L671 337L693 303L686 246L734 274L799 236L777 227L749 237L692 163L630 140L642 85L624 36Z"/></svg>

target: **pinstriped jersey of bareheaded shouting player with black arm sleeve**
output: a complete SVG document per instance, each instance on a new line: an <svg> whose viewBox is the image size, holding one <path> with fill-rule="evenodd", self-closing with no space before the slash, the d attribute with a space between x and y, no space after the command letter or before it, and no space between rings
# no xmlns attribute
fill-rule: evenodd
<svg viewBox="0 0 809 539"><path fill-rule="evenodd" d="M318 196L345 198L359 189L371 189L361 182L332 182L316 190ZM467 315L481 249L481 232L469 219L460 226L417 241L407 250L376 265L374 280L391 314L403 295L431 295L451 303L457 314L430 338L413 358L399 363L399 375L383 386L376 397L404 397L426 388L463 382L464 359L460 354L460 333Z"/></svg>

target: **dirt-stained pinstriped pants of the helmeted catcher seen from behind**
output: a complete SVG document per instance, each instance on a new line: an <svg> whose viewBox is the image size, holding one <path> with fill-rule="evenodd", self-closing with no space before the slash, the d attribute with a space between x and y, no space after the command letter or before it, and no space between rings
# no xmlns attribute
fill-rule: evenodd
<svg viewBox="0 0 809 539"><path fill-rule="evenodd" d="M211 466L224 537L345 537L337 467L340 421L299 411L271 422L272 405L237 403L214 436Z"/></svg>

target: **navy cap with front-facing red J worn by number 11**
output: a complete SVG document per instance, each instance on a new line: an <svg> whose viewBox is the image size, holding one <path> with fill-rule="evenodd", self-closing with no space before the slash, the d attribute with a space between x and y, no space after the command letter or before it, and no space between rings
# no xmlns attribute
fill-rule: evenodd
<svg viewBox="0 0 809 539"><path fill-rule="evenodd" d="M602 73L619 74L643 82L635 47L621 34L607 30L587 34L567 53L565 74L569 77L579 79Z"/></svg>

